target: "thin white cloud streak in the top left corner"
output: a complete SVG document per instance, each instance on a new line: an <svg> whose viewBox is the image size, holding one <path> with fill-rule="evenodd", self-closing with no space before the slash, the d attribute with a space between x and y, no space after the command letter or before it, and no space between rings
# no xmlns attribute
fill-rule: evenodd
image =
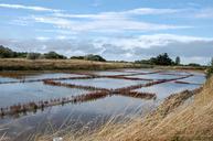
<svg viewBox="0 0 213 141"><path fill-rule="evenodd" d="M61 12L62 11L62 10L50 9L50 8L44 8L44 7L23 6L23 4L7 4L7 3L0 3L0 8L23 9L23 10L33 10L33 11L43 11L43 12Z"/></svg>

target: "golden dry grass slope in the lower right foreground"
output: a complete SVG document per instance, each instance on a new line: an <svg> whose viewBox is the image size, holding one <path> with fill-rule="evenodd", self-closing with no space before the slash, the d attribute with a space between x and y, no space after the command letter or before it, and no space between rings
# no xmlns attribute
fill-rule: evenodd
<svg viewBox="0 0 213 141"><path fill-rule="evenodd" d="M193 96L193 97L192 97ZM202 89L171 95L145 118L107 123L85 135L65 133L65 141L213 140L213 77ZM60 131L58 131L60 133ZM45 135L39 141L52 140Z"/></svg>

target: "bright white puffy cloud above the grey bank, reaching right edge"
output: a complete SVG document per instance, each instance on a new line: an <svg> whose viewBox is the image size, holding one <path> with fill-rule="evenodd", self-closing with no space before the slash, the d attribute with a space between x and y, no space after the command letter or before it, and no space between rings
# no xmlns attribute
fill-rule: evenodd
<svg viewBox="0 0 213 141"><path fill-rule="evenodd" d="M97 44L111 44L123 46L123 50L151 48L153 46L167 46L172 43L190 44L193 42L211 42L213 39L196 37L175 34L151 34L139 35L134 37L100 37L96 39Z"/></svg>

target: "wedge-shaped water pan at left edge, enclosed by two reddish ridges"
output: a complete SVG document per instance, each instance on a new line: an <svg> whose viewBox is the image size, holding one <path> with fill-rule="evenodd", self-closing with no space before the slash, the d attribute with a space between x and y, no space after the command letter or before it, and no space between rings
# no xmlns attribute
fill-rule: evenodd
<svg viewBox="0 0 213 141"><path fill-rule="evenodd" d="M88 91L76 88L62 88L39 83L15 83L0 85L0 107L7 107L19 102L47 100L76 96Z"/></svg>

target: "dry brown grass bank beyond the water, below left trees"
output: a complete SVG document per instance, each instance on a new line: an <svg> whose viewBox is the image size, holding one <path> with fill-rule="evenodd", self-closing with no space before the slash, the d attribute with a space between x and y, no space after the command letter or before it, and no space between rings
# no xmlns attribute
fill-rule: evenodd
<svg viewBox="0 0 213 141"><path fill-rule="evenodd" d="M82 59L24 59L0 58L0 70L104 70L141 67L134 63L92 62Z"/></svg>

